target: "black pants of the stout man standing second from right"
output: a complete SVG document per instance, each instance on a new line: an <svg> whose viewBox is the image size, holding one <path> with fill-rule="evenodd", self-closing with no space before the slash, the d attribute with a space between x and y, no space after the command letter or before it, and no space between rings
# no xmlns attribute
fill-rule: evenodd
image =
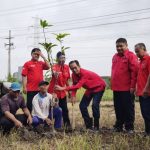
<svg viewBox="0 0 150 150"><path fill-rule="evenodd" d="M134 130L135 96L130 91L114 91L113 96L116 113L115 128L123 129L123 125L125 125L126 130Z"/></svg>

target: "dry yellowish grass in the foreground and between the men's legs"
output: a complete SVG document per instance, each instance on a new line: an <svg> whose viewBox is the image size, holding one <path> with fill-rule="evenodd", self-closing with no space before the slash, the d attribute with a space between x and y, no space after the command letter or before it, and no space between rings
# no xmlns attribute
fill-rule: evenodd
<svg viewBox="0 0 150 150"><path fill-rule="evenodd" d="M76 128L83 127L83 120L79 112L79 104L75 106ZM72 107L69 104L70 118ZM90 109L91 110L91 109ZM91 112L91 111L90 111ZM115 121L113 103L103 101L101 103L101 127L103 129L112 128ZM143 131L143 120L141 117L139 104L136 103L136 134L128 135L123 133L113 133L109 130L101 133L62 133L62 137L23 140L16 132L4 137L0 135L0 150L149 150L150 138L144 138L139 132ZM105 128L104 128L105 127Z"/></svg>

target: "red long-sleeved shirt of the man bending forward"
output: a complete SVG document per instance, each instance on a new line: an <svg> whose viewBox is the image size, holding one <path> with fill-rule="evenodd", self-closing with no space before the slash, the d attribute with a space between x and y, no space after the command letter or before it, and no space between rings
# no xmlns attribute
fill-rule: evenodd
<svg viewBox="0 0 150 150"><path fill-rule="evenodd" d="M105 81L99 75L82 68L80 75L72 74L72 80L74 85L66 88L67 91L72 91L72 96L75 96L76 91L81 87L86 89L86 95L104 91L106 87Z"/></svg>

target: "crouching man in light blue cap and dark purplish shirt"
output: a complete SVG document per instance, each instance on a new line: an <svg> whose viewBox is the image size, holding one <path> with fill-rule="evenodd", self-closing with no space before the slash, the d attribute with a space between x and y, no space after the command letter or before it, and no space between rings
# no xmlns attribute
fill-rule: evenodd
<svg viewBox="0 0 150 150"><path fill-rule="evenodd" d="M32 117L26 107L23 96L20 94L21 85L12 83L9 93L4 95L0 101L0 126L3 133L9 133L13 127L23 127L32 124ZM19 109L23 114L16 114Z"/></svg>

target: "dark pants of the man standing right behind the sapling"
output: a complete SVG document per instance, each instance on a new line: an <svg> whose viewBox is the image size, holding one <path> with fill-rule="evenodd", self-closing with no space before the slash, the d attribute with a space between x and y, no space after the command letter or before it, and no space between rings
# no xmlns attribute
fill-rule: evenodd
<svg viewBox="0 0 150 150"><path fill-rule="evenodd" d="M64 126L70 126L69 113L67 107L67 98L59 99L59 107L62 109Z"/></svg>

